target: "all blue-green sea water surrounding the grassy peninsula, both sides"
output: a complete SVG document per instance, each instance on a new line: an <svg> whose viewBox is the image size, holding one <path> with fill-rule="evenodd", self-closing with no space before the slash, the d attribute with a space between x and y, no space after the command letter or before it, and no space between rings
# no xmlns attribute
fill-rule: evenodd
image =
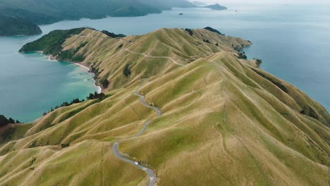
<svg viewBox="0 0 330 186"><path fill-rule="evenodd" d="M249 58L262 58L262 69L302 89L329 111L330 6L224 5L228 10L173 8L143 17L68 20L41 28L44 34L84 26L142 35L161 27L211 26L226 35L249 39L253 43L245 49ZM7 116L32 120L56 103L85 97L82 95L95 89L92 83L83 82L88 77L80 75L84 71L81 68L47 61L39 54L16 52L20 45L36 38L0 37L0 113ZM35 78L29 80L29 74Z"/></svg>

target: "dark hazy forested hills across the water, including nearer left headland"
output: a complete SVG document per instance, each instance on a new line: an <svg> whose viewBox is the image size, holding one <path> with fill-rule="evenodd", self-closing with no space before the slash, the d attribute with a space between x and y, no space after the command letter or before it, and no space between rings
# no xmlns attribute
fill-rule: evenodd
<svg viewBox="0 0 330 186"><path fill-rule="evenodd" d="M172 7L193 8L186 0L7 0L0 1L0 33L2 35L36 35L37 25L80 18L99 19L111 17L146 16L161 13ZM4 24L3 23L3 24Z"/></svg>

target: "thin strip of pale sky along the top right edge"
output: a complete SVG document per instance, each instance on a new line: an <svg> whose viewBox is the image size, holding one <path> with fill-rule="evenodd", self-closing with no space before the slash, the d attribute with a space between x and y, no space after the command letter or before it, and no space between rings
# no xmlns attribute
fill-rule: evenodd
<svg viewBox="0 0 330 186"><path fill-rule="evenodd" d="M189 0L202 1L207 4L228 4L228 3L272 3L272 4L329 4L329 0Z"/></svg>

